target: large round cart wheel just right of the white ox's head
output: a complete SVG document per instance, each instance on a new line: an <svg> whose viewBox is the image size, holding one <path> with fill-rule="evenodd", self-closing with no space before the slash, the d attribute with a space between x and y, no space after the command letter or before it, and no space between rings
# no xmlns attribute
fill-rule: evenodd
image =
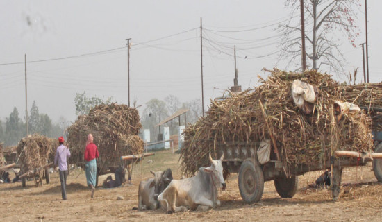
<svg viewBox="0 0 382 222"><path fill-rule="evenodd" d="M260 166L251 159L244 160L239 169L239 191L246 203L261 199L264 191L264 176Z"/></svg>

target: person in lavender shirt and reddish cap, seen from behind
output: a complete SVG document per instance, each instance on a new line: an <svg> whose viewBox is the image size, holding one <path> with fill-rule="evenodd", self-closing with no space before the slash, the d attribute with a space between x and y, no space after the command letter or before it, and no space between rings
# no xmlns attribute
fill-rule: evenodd
<svg viewBox="0 0 382 222"><path fill-rule="evenodd" d="M64 137L58 138L58 143L60 146L57 147L56 156L54 157L54 164L58 164L58 171L60 172L60 182L61 182L61 194L63 196L63 200L67 200L66 198L66 178L67 178L67 158L70 157L69 148L64 146Z"/></svg>

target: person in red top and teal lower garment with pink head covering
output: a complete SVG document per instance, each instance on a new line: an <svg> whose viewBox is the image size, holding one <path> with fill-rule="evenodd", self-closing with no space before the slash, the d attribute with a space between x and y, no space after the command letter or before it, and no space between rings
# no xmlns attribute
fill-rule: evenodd
<svg viewBox="0 0 382 222"><path fill-rule="evenodd" d="M98 148L93 144L93 135L88 135L88 141L86 142L85 153L83 159L86 160L86 180L88 186L92 189L92 198L94 196L96 180L97 180L97 161L99 157Z"/></svg>

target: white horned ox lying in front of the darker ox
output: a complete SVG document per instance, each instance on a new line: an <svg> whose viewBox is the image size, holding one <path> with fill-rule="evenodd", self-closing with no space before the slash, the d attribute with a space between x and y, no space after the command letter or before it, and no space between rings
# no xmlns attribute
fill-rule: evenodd
<svg viewBox="0 0 382 222"><path fill-rule="evenodd" d="M187 210L208 210L220 206L217 200L217 189L226 188L223 178L222 160L213 160L211 166L201 167L196 176L183 180L172 180L168 187L158 196L160 205L167 213Z"/></svg>

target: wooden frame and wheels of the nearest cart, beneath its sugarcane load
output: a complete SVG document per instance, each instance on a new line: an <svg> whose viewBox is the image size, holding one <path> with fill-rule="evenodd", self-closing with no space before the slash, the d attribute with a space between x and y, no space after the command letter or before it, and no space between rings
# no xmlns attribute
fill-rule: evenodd
<svg viewBox="0 0 382 222"><path fill-rule="evenodd" d="M218 144L219 150L224 153L223 167L231 173L238 173L238 185L242 199L247 203L258 202L263 196L264 182L274 180L274 187L282 198L292 198L297 192L299 175L309 171L331 169L332 196L338 199L342 169L344 167L365 166L373 161L376 178L382 178L382 143L376 147L374 153L358 153L351 151L336 151L335 157L322 164L297 164L290 167L289 176L283 169L283 163L272 158L266 163L258 162L258 147L260 142L226 142Z"/></svg>

